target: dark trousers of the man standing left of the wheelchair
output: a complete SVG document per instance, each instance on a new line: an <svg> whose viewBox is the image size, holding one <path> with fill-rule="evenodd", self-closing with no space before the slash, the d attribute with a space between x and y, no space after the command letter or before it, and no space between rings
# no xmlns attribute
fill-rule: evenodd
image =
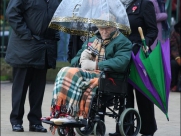
<svg viewBox="0 0 181 136"><path fill-rule="evenodd" d="M23 124L24 103L29 88L30 125L41 124L41 106L46 84L47 69L13 67L11 124Z"/></svg>

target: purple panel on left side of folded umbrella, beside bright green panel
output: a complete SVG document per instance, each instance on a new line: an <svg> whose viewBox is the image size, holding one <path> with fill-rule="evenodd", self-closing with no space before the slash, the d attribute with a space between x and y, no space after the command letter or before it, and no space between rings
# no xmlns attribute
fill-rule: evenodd
<svg viewBox="0 0 181 136"><path fill-rule="evenodd" d="M159 94L157 93L156 89L154 88L152 82L150 81L149 76L147 75L147 72L143 66L143 63L141 62L140 58L139 58L139 54L140 54L140 50L137 53L137 55L135 56L132 52L132 59L135 62L135 66L136 69L138 70L138 73L144 83L144 85L147 87L147 89L150 91L150 93L155 97L155 99L158 101L158 103L160 104L161 108L163 111L164 110L164 106L161 102L161 99L159 97Z"/></svg>

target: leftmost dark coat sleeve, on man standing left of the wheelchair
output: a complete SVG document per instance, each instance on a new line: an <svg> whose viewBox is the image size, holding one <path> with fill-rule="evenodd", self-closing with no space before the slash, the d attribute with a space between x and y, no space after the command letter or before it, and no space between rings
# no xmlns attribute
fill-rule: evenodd
<svg viewBox="0 0 181 136"><path fill-rule="evenodd" d="M30 40L32 35L23 19L23 6L22 0L10 0L6 9L6 18L21 39Z"/></svg>

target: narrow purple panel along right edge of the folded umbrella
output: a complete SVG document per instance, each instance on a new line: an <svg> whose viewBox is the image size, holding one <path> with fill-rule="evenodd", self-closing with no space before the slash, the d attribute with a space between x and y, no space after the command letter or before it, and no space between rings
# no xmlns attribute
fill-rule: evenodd
<svg viewBox="0 0 181 136"><path fill-rule="evenodd" d="M162 59L164 66L165 75L165 88L166 88L166 100L168 105L169 93L170 93L170 83L171 83L171 68L170 68L170 40L167 39L166 42L161 46Z"/></svg>

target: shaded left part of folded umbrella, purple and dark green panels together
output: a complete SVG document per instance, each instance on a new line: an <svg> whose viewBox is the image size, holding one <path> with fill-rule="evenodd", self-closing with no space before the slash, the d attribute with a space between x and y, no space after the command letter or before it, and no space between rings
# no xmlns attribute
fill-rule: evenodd
<svg viewBox="0 0 181 136"><path fill-rule="evenodd" d="M153 86L148 73L146 72L142 62L137 59L137 57L139 57L139 54L140 52L135 56L132 53L132 63L130 66L131 72L128 81L135 88L137 88L137 90L141 91L155 105L157 105L161 110L164 110L159 94Z"/></svg>

